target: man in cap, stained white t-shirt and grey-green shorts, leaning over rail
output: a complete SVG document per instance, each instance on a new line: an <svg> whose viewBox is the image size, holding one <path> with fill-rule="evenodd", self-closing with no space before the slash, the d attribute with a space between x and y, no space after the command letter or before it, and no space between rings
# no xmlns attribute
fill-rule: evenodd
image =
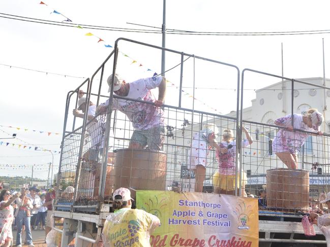
<svg viewBox="0 0 330 247"><path fill-rule="evenodd" d="M114 83L112 83L112 80ZM113 85L113 92L121 97L129 99L113 98L111 107L126 114L132 122L134 132L131 136L129 148L150 150L162 150L164 143L164 112L160 108L164 102L166 93L166 79L164 77L151 77L126 83L118 74L109 76L109 90ZM151 89L158 87L158 99L156 100ZM142 100L149 103L142 103ZM97 113L105 114L109 99L98 106Z"/></svg>

